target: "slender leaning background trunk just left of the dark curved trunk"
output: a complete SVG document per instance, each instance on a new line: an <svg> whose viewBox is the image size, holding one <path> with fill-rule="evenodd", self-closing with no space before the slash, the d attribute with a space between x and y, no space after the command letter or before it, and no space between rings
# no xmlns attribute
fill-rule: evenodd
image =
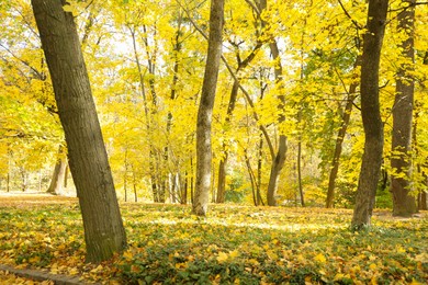
<svg viewBox="0 0 428 285"><path fill-rule="evenodd" d="M337 173L339 172L339 164L340 164L339 161L340 161L341 150L342 150L342 146L343 146L345 135L347 134L347 129L348 129L349 122L351 118L353 101L357 98L357 93L356 93L357 87L358 87L358 83L352 83L349 88L349 94L348 94L347 104L345 106L342 123L341 123L340 129L339 129L337 137L336 137L335 153L333 157L333 166L331 166L330 175L328 178L328 190L327 190L327 200L326 200L326 207L327 208L333 208L335 205L336 179L337 179Z"/></svg>

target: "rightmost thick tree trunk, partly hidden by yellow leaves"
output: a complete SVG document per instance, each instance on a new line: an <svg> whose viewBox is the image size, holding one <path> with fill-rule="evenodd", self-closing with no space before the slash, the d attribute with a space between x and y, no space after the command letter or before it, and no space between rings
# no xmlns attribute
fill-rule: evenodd
<svg viewBox="0 0 428 285"><path fill-rule="evenodd" d="M401 43L402 56L407 61L398 68L396 94L393 107L391 192L393 194L393 215L408 217L417 212L412 190L412 121L415 80L412 78L415 61L415 0L404 0L409 8L398 13L398 32L404 33Z"/></svg>

